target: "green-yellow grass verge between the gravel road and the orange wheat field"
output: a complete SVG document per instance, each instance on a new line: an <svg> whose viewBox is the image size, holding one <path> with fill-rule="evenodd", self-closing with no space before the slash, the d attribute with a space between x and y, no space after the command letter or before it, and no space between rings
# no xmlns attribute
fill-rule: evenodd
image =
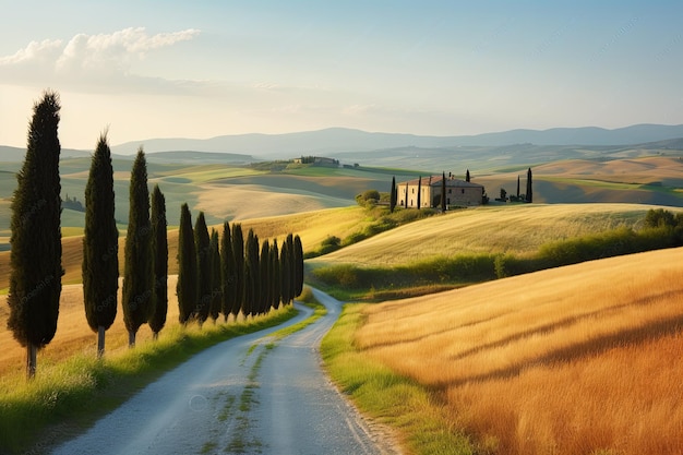
<svg viewBox="0 0 683 455"><path fill-rule="evenodd" d="M339 320L323 338L325 367L358 408L398 430L402 443L414 454L475 454L484 447L447 422L445 406L429 388L371 360L354 344L362 324L363 304L346 304Z"/></svg>

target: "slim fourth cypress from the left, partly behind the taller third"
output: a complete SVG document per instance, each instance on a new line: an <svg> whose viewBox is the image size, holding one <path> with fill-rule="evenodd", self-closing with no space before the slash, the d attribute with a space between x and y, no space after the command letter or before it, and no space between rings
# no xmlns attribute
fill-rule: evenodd
<svg viewBox="0 0 683 455"><path fill-rule="evenodd" d="M154 333L154 339L166 325L168 313L168 236L166 232L166 197L154 185L152 191L152 251L154 263L154 312L147 321Z"/></svg>

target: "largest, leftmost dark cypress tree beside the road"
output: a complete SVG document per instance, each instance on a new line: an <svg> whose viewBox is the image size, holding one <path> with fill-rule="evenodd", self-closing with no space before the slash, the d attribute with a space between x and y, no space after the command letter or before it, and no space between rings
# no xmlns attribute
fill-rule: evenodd
<svg viewBox="0 0 683 455"><path fill-rule="evenodd" d="M33 107L26 156L12 197L8 328L26 348L26 375L36 373L37 350L57 331L61 295L61 184L59 95L45 92Z"/></svg>

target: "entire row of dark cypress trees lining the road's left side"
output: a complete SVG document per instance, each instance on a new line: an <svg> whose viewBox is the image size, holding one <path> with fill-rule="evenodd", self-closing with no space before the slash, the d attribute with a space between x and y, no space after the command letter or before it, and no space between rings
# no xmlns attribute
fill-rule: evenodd
<svg viewBox="0 0 683 455"><path fill-rule="evenodd" d="M17 172L11 203L10 289L8 328L26 348L26 375L36 373L37 350L57 332L61 277L61 183L59 176L59 95L46 91L35 103L26 155ZM125 237L121 307L135 345L139 328L147 323L154 338L166 324L168 310L168 239L166 202L158 185L147 187L142 146L130 180L130 212ZM189 227L188 227L189 224ZM113 168L107 131L92 156L85 188L83 235L83 299L86 321L97 333L97 356L105 351L105 334L118 309L118 238L115 218ZM243 241L241 226L224 224L223 239L206 227L200 213L192 229L187 203L182 205L179 236L178 303L180 322L201 324L219 314L245 318L288 304L303 287L303 251L299 236L289 234L260 244L250 229Z"/></svg>

